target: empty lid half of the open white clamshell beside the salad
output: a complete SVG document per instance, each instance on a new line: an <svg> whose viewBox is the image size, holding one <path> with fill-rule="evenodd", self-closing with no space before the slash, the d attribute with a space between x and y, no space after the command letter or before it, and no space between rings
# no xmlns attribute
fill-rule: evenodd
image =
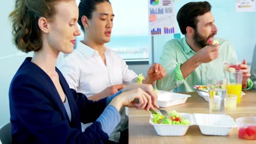
<svg viewBox="0 0 256 144"><path fill-rule="evenodd" d="M226 136L236 127L234 119L228 115L195 113L193 116L201 133L205 135Z"/></svg>

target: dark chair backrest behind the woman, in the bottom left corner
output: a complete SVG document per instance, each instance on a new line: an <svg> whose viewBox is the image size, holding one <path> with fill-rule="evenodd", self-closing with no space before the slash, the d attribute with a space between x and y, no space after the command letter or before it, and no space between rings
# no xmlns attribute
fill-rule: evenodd
<svg viewBox="0 0 256 144"><path fill-rule="evenodd" d="M11 123L7 123L0 128L0 141L2 144L11 143Z"/></svg>

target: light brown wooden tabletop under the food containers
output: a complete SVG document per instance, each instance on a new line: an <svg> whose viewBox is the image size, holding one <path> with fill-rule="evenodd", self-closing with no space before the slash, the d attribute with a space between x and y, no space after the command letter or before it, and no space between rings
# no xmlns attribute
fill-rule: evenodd
<svg viewBox="0 0 256 144"><path fill-rule="evenodd" d="M226 115L234 120L237 117L256 116L256 91L246 91L246 95L237 105L236 110L226 110ZM189 97L185 104L163 108L166 111L176 110L185 113L209 113L208 102L196 92L186 92ZM191 125L184 136L159 136L153 125L149 124L150 112L129 109L129 143L256 143L256 140L239 139L237 128L231 130L228 136L203 135L198 125Z"/></svg>

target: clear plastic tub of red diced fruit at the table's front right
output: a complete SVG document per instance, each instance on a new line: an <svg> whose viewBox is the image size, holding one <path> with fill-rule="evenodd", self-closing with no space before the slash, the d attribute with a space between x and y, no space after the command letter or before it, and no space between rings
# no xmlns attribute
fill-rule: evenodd
<svg viewBox="0 0 256 144"><path fill-rule="evenodd" d="M256 117L236 118L238 137L245 140L256 140Z"/></svg>

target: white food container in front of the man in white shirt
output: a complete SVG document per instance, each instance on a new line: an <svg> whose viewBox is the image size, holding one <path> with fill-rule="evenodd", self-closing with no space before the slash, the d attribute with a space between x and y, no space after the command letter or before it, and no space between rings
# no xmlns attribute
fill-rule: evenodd
<svg viewBox="0 0 256 144"><path fill-rule="evenodd" d="M188 97L191 97L191 95L158 90L158 105L160 107L169 107L184 104Z"/></svg>

